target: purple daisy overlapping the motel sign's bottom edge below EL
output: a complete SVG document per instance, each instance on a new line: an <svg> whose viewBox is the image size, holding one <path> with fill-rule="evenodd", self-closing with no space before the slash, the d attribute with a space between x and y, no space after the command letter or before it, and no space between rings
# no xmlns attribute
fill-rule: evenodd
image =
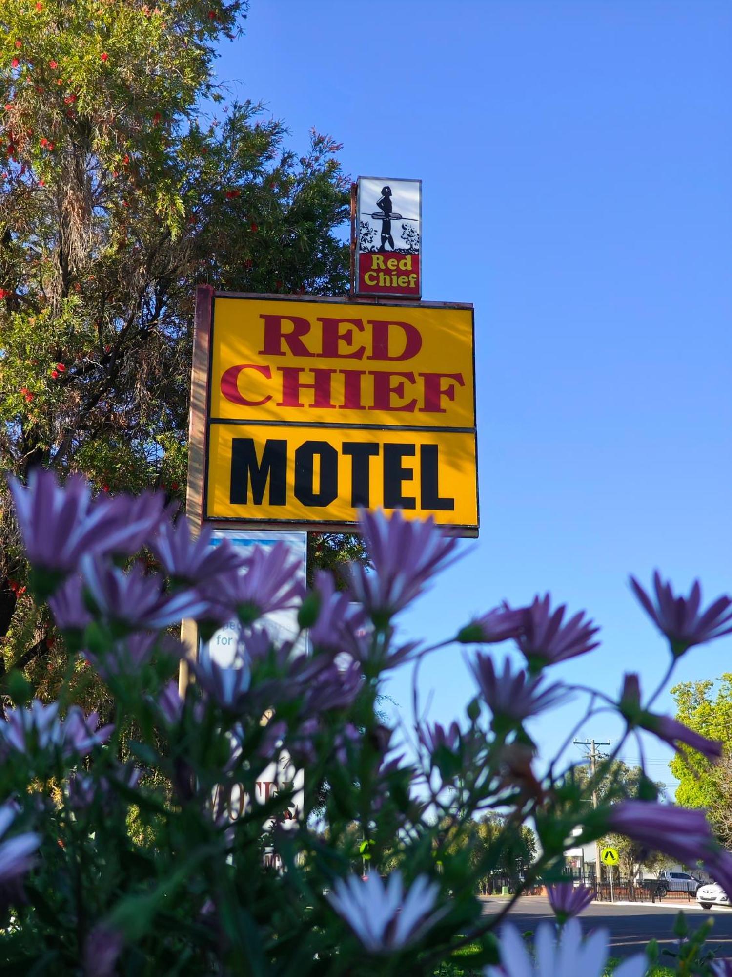
<svg viewBox="0 0 732 977"><path fill-rule="evenodd" d="M379 512L361 511L363 533L373 572L351 565L350 590L379 627L405 608L425 589L427 580L456 559L458 540L427 520L408 520L398 511L387 518Z"/></svg>

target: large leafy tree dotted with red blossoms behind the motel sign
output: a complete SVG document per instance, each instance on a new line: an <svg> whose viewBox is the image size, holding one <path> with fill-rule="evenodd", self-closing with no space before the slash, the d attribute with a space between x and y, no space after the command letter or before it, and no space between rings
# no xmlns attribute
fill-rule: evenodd
<svg viewBox="0 0 732 977"><path fill-rule="evenodd" d="M224 104L242 0L18 0L0 22L0 456L100 491L182 497L193 297L343 293L338 145L298 155ZM4 106L4 107L3 107ZM313 539L326 562L344 548ZM43 692L54 634L24 590L0 480L0 639ZM358 543L348 555L360 555ZM51 669L53 674L53 669Z"/></svg>

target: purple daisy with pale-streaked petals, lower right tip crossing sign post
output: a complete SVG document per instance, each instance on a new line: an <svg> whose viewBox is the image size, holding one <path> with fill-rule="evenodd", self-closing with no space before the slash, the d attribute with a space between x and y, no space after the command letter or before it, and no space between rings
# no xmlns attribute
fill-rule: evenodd
<svg viewBox="0 0 732 977"><path fill-rule="evenodd" d="M203 616L208 602L195 591L168 595L159 576L145 575L139 566L124 573L94 557L82 559L84 581L103 616L130 631L159 629L183 617Z"/></svg>

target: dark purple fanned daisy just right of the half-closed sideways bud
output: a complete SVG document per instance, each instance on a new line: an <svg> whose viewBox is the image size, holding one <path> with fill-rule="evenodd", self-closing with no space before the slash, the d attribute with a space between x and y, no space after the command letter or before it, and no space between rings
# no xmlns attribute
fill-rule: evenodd
<svg viewBox="0 0 732 977"><path fill-rule="evenodd" d="M535 597L534 603L526 608L523 633L515 640L526 656L530 671L541 671L556 661L585 655L599 645L599 641L592 641L599 628L591 620L583 620L584 611L562 624L566 609L562 604L552 613L549 594L541 600Z"/></svg>

